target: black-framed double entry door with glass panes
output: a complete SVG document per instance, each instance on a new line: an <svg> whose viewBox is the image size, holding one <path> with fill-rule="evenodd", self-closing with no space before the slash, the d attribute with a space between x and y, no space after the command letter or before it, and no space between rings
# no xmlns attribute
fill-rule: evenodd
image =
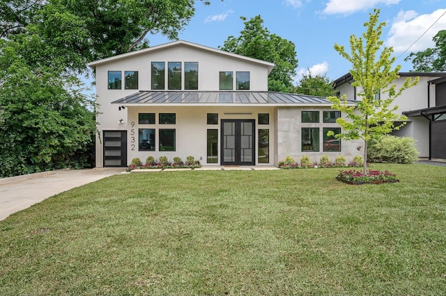
<svg viewBox="0 0 446 296"><path fill-rule="evenodd" d="M255 121L222 120L222 165L255 165Z"/></svg>

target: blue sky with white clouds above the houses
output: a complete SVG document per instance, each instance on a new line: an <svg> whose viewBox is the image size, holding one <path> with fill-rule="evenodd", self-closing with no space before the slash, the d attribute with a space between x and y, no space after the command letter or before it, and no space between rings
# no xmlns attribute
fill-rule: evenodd
<svg viewBox="0 0 446 296"><path fill-rule="evenodd" d="M295 44L296 83L308 69L330 80L348 73L351 64L334 50L334 43L349 52L350 35L360 37L374 8L380 9L380 22L387 23L381 39L394 48L399 57L394 65L401 65L401 72L412 69L412 63L404 62L411 51L433 47L433 36L446 29L444 0L211 0L210 6L197 1L196 8L180 40L217 48L230 35L240 35L240 16L261 15L270 33ZM147 38L151 46L171 41L162 35Z"/></svg>

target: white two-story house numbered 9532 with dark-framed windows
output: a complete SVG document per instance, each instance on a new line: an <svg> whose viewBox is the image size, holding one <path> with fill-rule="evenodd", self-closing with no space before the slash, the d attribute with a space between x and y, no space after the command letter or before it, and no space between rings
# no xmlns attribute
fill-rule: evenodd
<svg viewBox="0 0 446 296"><path fill-rule="evenodd" d="M335 140L323 97L268 92L274 64L185 41L105 58L95 69L96 167L194 156L201 165L277 165L286 156L361 155ZM353 104L353 103L352 103Z"/></svg>

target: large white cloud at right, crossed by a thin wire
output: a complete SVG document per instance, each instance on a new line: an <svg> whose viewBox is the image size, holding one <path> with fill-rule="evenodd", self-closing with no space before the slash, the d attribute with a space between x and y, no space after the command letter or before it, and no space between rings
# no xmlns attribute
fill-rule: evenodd
<svg viewBox="0 0 446 296"><path fill-rule="evenodd" d="M393 47L395 52L401 53L407 49L408 53L410 53L422 51L428 47L434 47L435 44L432 40L433 36L435 36L438 31L446 28L446 15L443 15L445 12L445 8L438 9L429 15L418 15L413 10L408 10L406 12L400 11L392 22L386 46ZM438 22L436 22L437 19ZM436 22L436 24L433 24L434 22ZM432 28L429 28L430 26L432 26ZM429 31L426 32L428 28ZM422 37L420 38L420 36ZM420 40L415 42L418 38L420 38ZM415 44L413 44L413 42L415 42ZM410 47L410 45L412 45L412 47Z"/></svg>

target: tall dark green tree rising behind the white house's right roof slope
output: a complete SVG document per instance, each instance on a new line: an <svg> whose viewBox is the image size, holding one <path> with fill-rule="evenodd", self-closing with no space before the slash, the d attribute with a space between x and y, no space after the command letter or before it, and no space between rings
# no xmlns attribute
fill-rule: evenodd
<svg viewBox="0 0 446 296"><path fill-rule="evenodd" d="M271 34L268 28L263 26L260 15L249 20L246 17L240 19L245 24L240 36L229 36L219 48L233 54L275 63L275 68L268 76L268 90L288 92L293 88L293 77L298 67L294 43Z"/></svg>

